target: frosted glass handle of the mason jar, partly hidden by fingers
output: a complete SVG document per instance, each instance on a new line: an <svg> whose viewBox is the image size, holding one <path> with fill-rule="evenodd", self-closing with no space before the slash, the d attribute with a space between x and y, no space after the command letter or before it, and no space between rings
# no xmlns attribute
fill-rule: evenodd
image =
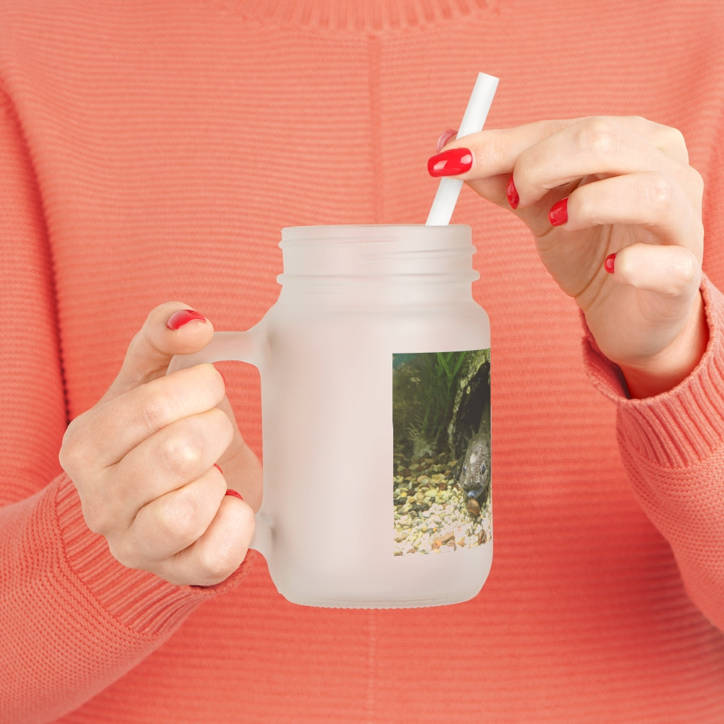
<svg viewBox="0 0 724 724"><path fill-rule="evenodd" d="M261 372L265 354L264 334L261 334L258 325L247 332L214 332L211 342L203 350L190 355L175 355L169 363L166 374L204 362L226 361L247 362L253 364ZM266 513L264 502L255 518L256 530L249 547L260 552L269 561L272 544L272 522L271 516Z"/></svg>

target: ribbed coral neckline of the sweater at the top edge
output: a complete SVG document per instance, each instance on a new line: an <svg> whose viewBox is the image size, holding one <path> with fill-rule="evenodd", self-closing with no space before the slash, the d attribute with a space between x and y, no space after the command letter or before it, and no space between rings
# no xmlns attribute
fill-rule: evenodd
<svg viewBox="0 0 724 724"><path fill-rule="evenodd" d="M369 33L436 25L494 9L500 0L232 0L246 20Z"/></svg>

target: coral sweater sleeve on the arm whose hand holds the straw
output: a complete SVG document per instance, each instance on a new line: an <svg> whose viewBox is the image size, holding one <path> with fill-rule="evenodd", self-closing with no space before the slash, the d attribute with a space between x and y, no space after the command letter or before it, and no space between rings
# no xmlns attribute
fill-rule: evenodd
<svg viewBox="0 0 724 724"><path fill-rule="evenodd" d="M673 390L628 399L620 370L587 330L584 359L594 384L617 405L618 445L634 494L668 540L689 596L724 631L724 296L707 278L702 295L709 345Z"/></svg>

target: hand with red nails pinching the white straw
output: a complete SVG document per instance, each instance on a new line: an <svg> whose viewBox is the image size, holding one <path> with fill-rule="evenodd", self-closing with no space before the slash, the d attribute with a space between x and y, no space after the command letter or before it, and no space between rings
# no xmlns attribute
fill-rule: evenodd
<svg viewBox="0 0 724 724"><path fill-rule="evenodd" d="M528 225L633 397L694 369L708 340L703 182L681 132L637 117L541 121L455 140L429 171Z"/></svg>

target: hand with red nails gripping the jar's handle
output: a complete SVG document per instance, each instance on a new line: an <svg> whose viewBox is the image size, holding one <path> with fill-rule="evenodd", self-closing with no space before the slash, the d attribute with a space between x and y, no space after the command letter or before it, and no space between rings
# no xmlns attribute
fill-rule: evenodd
<svg viewBox="0 0 724 724"><path fill-rule="evenodd" d="M108 392L72 421L60 451L90 530L123 565L173 584L230 576L261 502L261 466L223 377L211 364L166 374L173 355L201 350L213 332L181 303L154 309ZM227 478L244 500L227 495Z"/></svg>

